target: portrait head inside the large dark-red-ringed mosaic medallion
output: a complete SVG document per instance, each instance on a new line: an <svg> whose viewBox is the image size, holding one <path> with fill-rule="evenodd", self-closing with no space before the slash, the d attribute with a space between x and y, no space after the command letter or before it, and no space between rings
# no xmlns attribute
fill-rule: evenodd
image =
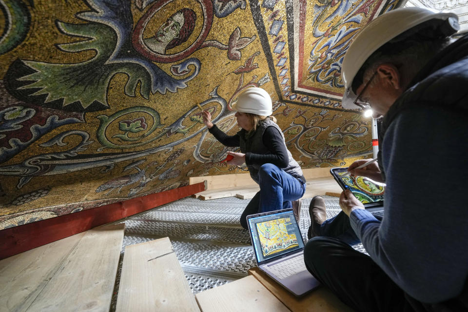
<svg viewBox="0 0 468 312"><path fill-rule="evenodd" d="M195 28L195 12L183 8L171 15L150 38L143 39L153 52L166 54L166 51L184 43Z"/></svg>

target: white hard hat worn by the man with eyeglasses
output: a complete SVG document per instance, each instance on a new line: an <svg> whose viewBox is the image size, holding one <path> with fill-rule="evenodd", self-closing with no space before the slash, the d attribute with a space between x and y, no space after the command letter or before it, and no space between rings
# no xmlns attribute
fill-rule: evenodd
<svg viewBox="0 0 468 312"><path fill-rule="evenodd" d="M453 28L451 34L460 28L456 14L408 7L385 13L361 29L346 51L341 67L341 78L345 83L345 93L341 103L343 108L359 108L353 103L356 95L351 89L352 80L372 53L405 31L433 19L448 20L450 27Z"/></svg>

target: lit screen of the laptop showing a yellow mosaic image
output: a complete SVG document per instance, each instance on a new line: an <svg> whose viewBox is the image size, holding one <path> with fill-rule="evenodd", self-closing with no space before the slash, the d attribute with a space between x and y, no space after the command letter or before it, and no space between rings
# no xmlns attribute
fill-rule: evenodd
<svg viewBox="0 0 468 312"><path fill-rule="evenodd" d="M304 248L292 210L248 218L258 262Z"/></svg>

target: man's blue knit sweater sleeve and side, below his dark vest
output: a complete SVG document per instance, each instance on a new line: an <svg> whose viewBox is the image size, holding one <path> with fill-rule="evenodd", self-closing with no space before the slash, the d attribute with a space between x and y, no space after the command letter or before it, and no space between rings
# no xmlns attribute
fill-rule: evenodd
<svg viewBox="0 0 468 312"><path fill-rule="evenodd" d="M422 302L458 295L468 275L467 137L456 112L425 105L402 112L384 139L384 219L351 213L372 259Z"/></svg>

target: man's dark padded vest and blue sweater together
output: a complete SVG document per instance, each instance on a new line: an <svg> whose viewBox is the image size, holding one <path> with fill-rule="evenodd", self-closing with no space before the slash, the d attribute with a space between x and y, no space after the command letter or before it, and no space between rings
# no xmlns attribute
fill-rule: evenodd
<svg viewBox="0 0 468 312"><path fill-rule="evenodd" d="M370 257L424 303L467 292L467 84L465 36L430 60L384 117L382 222L365 210L350 216Z"/></svg>

